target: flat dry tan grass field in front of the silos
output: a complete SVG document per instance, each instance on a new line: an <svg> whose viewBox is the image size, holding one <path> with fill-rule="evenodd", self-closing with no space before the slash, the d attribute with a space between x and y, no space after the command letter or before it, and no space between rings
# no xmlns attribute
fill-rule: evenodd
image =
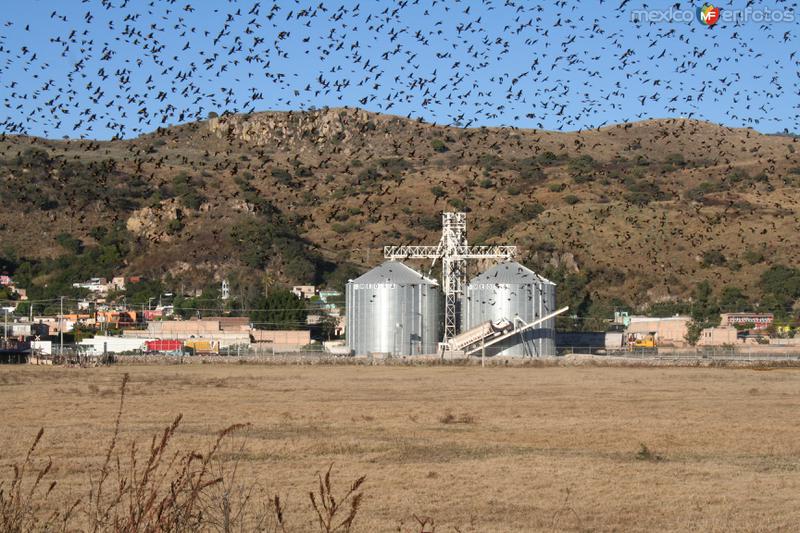
<svg viewBox="0 0 800 533"><path fill-rule="evenodd" d="M56 497L84 491L124 372L125 443L147 447L178 413L178 447L205 449L215 431L252 423L239 468L259 497L281 495L291 531L315 530L308 492L331 463L336 490L367 476L357 531L419 531L414 514L437 532L800 523L791 369L6 366L0 463L20 460L44 427Z"/></svg>

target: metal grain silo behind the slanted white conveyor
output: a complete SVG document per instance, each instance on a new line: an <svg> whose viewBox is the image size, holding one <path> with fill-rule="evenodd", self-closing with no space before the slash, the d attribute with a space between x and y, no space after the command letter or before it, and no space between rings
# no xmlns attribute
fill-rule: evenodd
<svg viewBox="0 0 800 533"><path fill-rule="evenodd" d="M487 320L527 323L556 310L556 286L514 261L495 265L473 278L464 291L463 330ZM556 355L555 318L486 348L486 355Z"/></svg>

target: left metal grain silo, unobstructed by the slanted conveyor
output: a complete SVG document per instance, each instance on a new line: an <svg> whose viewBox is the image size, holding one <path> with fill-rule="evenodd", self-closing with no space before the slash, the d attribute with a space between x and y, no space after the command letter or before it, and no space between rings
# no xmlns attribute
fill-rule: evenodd
<svg viewBox="0 0 800 533"><path fill-rule="evenodd" d="M355 355L435 354L439 284L398 261L347 283L347 347Z"/></svg>

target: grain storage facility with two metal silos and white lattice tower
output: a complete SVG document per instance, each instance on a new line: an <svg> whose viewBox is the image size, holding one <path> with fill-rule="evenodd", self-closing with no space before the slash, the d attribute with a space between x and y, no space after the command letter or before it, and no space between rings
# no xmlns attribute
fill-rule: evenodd
<svg viewBox="0 0 800 533"><path fill-rule="evenodd" d="M385 247L390 261L347 284L350 353L556 355L555 316L567 308L555 309L555 284L514 262L516 251L469 246L465 213L442 214L438 245ZM405 259L441 260L441 285ZM468 260L502 262L467 284Z"/></svg>

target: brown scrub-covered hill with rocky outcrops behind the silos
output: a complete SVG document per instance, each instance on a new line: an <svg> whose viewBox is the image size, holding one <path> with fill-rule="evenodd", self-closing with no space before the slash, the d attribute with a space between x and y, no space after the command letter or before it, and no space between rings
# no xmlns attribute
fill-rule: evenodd
<svg viewBox="0 0 800 533"><path fill-rule="evenodd" d="M670 308L702 281L765 307L762 275L798 263L798 145L685 119L563 133L357 109L5 135L0 256L42 298L124 272L208 295L226 277L246 301L265 282L341 284L464 210L471 243L517 244L579 314Z"/></svg>

